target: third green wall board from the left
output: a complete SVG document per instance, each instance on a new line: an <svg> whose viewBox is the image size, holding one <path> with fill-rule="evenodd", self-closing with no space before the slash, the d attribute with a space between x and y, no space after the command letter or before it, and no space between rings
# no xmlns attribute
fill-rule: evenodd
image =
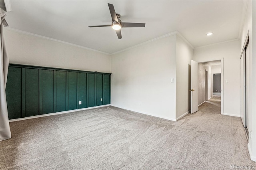
<svg viewBox="0 0 256 170"><path fill-rule="evenodd" d="M42 114L54 113L54 71L42 70Z"/></svg>

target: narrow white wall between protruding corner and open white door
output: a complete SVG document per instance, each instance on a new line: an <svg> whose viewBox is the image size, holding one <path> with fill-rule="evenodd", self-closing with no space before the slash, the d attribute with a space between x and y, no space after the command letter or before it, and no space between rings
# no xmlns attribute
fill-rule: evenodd
<svg viewBox="0 0 256 170"><path fill-rule="evenodd" d="M190 110L190 63L193 49L176 36L176 119Z"/></svg>

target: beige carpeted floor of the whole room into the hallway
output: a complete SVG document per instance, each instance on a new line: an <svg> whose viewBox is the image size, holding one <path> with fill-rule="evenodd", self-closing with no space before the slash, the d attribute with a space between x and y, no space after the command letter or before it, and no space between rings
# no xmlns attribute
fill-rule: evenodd
<svg viewBox="0 0 256 170"><path fill-rule="evenodd" d="M253 165L239 117L214 96L177 122L102 107L10 123L0 169L230 169Z"/></svg>

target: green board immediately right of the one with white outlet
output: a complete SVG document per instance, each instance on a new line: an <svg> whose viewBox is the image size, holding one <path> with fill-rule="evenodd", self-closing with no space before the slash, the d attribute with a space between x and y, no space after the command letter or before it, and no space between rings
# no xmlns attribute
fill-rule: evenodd
<svg viewBox="0 0 256 170"><path fill-rule="evenodd" d="M95 106L95 74L87 74L87 89L88 89L88 107Z"/></svg>

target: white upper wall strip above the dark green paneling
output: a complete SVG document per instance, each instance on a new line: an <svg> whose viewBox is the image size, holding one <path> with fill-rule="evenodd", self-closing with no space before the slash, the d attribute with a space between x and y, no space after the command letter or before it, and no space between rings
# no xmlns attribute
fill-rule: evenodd
<svg viewBox="0 0 256 170"><path fill-rule="evenodd" d="M4 29L10 63L110 73L105 53Z"/></svg>

